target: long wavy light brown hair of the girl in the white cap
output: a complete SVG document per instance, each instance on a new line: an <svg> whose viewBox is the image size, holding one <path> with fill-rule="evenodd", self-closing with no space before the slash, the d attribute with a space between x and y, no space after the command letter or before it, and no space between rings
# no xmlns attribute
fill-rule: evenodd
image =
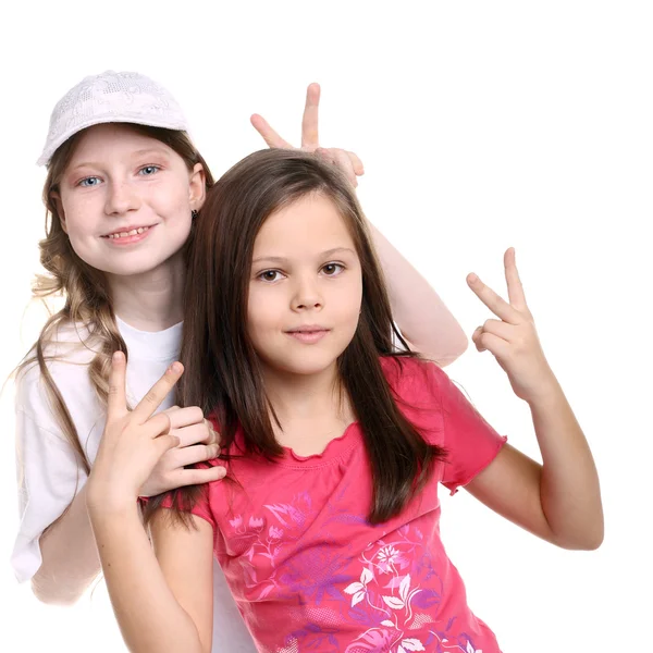
<svg viewBox="0 0 653 653"><path fill-rule="evenodd" d="M213 177L206 161L185 132L136 124L128 126L144 136L156 138L169 146L182 157L189 171L196 163L201 163L207 189L213 185ZM88 473L90 461L84 452L67 406L48 369L48 364L58 359L57 356L48 354L48 346L57 343L58 330L61 326L83 325L84 330L79 332L82 344L95 353L88 367L88 374L94 390L104 406L109 392L111 355L120 349L128 356L128 352L118 330L106 276L75 254L63 231L61 215L54 201L61 177L85 132L86 130L83 130L69 138L54 152L48 167L42 192L46 205L46 237L40 241L39 249L40 262L46 273L37 274L32 293L34 298L41 300L52 296L63 296L65 303L61 310L48 319L30 353L17 367L17 373L38 364L54 416L66 441L73 447L81 468Z"/></svg>

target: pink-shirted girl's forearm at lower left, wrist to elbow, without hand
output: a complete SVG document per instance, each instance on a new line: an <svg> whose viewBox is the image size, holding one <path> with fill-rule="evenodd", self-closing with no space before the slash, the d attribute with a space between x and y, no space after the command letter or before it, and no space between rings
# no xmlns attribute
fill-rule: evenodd
<svg viewBox="0 0 653 653"><path fill-rule="evenodd" d="M202 653L193 619L170 590L136 502L115 510L89 506L107 588L133 653Z"/></svg>

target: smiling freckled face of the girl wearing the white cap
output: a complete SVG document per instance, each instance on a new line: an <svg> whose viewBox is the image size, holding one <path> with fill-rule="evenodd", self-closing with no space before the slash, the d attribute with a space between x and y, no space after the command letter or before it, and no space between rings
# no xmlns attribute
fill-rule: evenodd
<svg viewBox="0 0 653 653"><path fill-rule="evenodd" d="M157 269L182 249L204 193L201 164L189 171L165 144L111 123L82 135L56 201L77 256L128 276Z"/></svg>

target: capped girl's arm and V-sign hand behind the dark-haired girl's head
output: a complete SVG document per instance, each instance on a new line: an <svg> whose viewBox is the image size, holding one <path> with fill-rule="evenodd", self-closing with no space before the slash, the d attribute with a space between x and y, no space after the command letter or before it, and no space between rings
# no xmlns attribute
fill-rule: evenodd
<svg viewBox="0 0 653 653"><path fill-rule="evenodd" d="M337 165L356 187L357 176L364 174L360 159L343 149L320 147L319 104L320 86L310 84L306 91L300 149L315 151ZM268 146L294 149L260 115L254 114L251 124ZM411 348L441 367L453 362L467 349L467 336L460 324L426 279L371 223L368 225L385 271L393 313L402 335Z"/></svg>

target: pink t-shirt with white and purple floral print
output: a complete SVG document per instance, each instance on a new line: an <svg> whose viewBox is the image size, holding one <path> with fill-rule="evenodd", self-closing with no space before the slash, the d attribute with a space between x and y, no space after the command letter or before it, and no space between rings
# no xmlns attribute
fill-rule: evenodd
<svg viewBox="0 0 653 653"><path fill-rule="evenodd" d="M500 651L440 540L438 483L455 492L506 439L436 366L382 364L401 410L448 452L398 517L366 519L371 477L356 422L320 455L234 459L238 484L210 483L193 510L213 527L215 556L260 651Z"/></svg>

